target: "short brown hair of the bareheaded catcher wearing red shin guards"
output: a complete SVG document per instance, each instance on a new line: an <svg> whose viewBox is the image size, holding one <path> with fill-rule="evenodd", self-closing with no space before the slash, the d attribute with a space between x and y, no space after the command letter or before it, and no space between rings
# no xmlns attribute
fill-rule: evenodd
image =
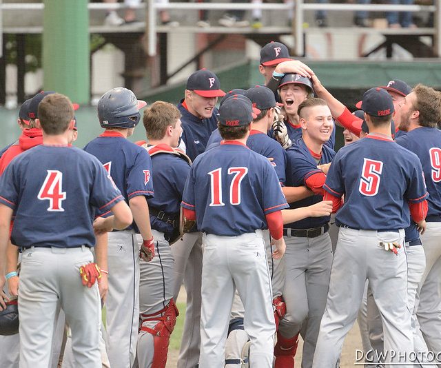
<svg viewBox="0 0 441 368"><path fill-rule="evenodd" d="M147 139L163 139L167 127L176 127L178 119L181 119L181 112L176 106L164 101L152 103L143 114Z"/></svg>

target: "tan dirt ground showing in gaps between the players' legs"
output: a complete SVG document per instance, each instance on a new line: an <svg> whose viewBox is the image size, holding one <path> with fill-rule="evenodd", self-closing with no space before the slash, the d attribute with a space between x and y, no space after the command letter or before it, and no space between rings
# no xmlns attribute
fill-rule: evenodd
<svg viewBox="0 0 441 368"><path fill-rule="evenodd" d="M181 289L178 301L185 302L185 289ZM302 361L302 345L303 342L300 339L296 354L296 367L300 368L300 362ZM362 349L360 330L358 329L358 324L355 323L349 331L349 334L345 338L345 343L343 344L342 355L340 359L340 368L353 368L360 367L360 365L354 365L356 358L356 349ZM167 358L167 368L176 368L176 362L178 361L179 351L176 349L169 350Z"/></svg>

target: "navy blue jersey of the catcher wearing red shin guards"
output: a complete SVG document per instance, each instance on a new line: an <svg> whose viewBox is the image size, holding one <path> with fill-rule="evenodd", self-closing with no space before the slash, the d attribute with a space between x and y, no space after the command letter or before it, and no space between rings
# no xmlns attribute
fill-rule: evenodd
<svg viewBox="0 0 441 368"><path fill-rule="evenodd" d="M160 152L167 150L170 153L153 153L155 150ZM155 183L154 198L148 200L149 207L179 219L182 194L190 172L190 165L174 153L176 150L166 145L152 145L147 147L147 151L152 152ZM170 236L173 232L172 225L159 220L152 214L150 214L150 223L152 229L163 232L166 236Z"/></svg>

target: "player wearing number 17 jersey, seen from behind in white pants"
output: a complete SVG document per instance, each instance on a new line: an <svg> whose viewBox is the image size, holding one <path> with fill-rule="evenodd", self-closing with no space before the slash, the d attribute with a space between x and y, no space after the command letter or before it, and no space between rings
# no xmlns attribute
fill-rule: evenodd
<svg viewBox="0 0 441 368"><path fill-rule="evenodd" d="M275 326L260 229L268 226L275 256L283 256L280 209L287 203L269 161L245 147L252 103L239 97L230 97L220 108L218 127L225 141L196 159L182 202L185 218L196 220L204 233L201 368L224 366L234 287L245 307L250 364L270 367L272 362Z"/></svg>

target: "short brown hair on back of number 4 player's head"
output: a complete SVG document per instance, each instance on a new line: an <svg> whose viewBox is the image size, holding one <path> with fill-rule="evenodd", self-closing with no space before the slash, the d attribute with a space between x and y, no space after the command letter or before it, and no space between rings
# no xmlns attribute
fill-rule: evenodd
<svg viewBox="0 0 441 368"><path fill-rule="evenodd" d="M52 93L39 103L38 116L46 134L63 134L74 119L74 107L64 94Z"/></svg>

